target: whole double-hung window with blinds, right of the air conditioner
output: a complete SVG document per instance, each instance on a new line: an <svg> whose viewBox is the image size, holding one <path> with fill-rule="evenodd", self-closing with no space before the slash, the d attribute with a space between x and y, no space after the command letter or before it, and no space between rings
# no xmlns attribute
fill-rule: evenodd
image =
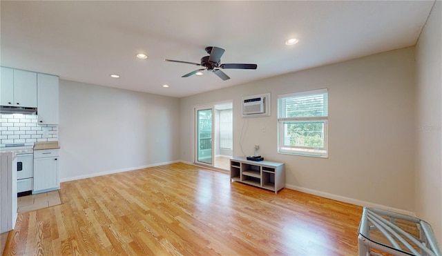
<svg viewBox="0 0 442 256"><path fill-rule="evenodd" d="M278 96L278 152L327 157L328 89Z"/></svg>

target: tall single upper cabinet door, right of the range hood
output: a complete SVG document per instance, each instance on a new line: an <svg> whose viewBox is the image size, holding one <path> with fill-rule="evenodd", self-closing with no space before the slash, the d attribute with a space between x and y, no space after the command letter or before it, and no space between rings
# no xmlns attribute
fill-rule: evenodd
<svg viewBox="0 0 442 256"><path fill-rule="evenodd" d="M37 74L37 115L39 124L58 124L58 77Z"/></svg>

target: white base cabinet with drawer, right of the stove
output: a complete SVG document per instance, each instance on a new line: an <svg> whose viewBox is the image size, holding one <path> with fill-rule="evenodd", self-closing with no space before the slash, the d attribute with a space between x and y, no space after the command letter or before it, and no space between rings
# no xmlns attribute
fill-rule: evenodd
<svg viewBox="0 0 442 256"><path fill-rule="evenodd" d="M32 194L60 188L59 149L34 150L34 190Z"/></svg>

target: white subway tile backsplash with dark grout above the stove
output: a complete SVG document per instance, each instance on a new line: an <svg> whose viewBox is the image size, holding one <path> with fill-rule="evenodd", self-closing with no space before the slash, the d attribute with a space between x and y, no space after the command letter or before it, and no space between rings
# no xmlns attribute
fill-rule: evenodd
<svg viewBox="0 0 442 256"><path fill-rule="evenodd" d="M58 126L37 124L37 115L0 114L0 143L58 141Z"/></svg>

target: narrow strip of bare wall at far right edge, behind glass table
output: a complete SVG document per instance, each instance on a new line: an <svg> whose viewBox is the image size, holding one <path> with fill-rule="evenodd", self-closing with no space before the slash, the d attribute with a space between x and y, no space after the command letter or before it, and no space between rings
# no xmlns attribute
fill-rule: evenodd
<svg viewBox="0 0 442 256"><path fill-rule="evenodd" d="M436 4L416 45L416 214L442 246L442 15Z"/></svg>

